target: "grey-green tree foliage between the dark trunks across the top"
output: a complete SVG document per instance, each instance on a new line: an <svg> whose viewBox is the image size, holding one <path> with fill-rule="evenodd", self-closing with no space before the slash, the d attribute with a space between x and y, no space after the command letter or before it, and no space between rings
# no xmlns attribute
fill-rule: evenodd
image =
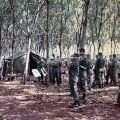
<svg viewBox="0 0 120 120"><path fill-rule="evenodd" d="M62 47L76 45L76 32L80 31L83 15L82 0L49 0L49 42L56 48L60 40L62 19ZM14 11L12 9L14 5ZM88 42L105 43L111 40L120 42L120 3L117 0L91 0L88 12ZM0 0L0 13L3 18L2 42L11 46L13 14L15 19L15 47L20 43L26 49L28 28L33 49L46 48L46 2L43 0ZM25 34L26 33L26 34ZM41 37L44 36L44 37ZM79 38L78 38L79 39ZM4 51L4 50L3 50ZM9 51L9 50L8 50Z"/></svg>

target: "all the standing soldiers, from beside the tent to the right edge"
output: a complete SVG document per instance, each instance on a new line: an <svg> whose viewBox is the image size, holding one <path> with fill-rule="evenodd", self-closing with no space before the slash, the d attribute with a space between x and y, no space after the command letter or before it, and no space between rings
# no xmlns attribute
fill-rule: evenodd
<svg viewBox="0 0 120 120"><path fill-rule="evenodd" d="M70 62L69 64L66 63L66 66L71 96L73 97L73 103L70 104L72 108L80 106L81 101L87 101L87 90L97 86L102 88L109 83L117 84L116 73L119 65L115 54L110 55L109 60L106 60L103 54L99 52L96 55L96 60L93 60L90 54L85 54L85 49L81 48L79 53L74 53L71 56ZM39 80L42 80L42 82L44 78L44 75L42 75L44 73L43 67L44 64L40 62L37 68L41 72ZM61 85L62 67L60 59L51 59L49 70L47 70L50 84ZM79 96L79 93L82 96Z"/></svg>

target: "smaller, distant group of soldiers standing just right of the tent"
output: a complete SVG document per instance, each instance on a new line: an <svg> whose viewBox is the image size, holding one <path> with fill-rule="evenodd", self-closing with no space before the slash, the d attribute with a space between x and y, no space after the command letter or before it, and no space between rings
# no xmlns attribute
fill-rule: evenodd
<svg viewBox="0 0 120 120"><path fill-rule="evenodd" d="M57 59L51 59L50 61L48 61L48 63L44 63L42 61L40 61L38 63L37 69L40 72L41 76L38 77L39 82L41 82L42 84L44 84L44 82L46 84L50 83L51 85L58 85L60 86L61 82L61 61L57 58ZM45 70L47 72L45 72ZM45 76L48 74L49 78L49 82L45 81Z"/></svg>

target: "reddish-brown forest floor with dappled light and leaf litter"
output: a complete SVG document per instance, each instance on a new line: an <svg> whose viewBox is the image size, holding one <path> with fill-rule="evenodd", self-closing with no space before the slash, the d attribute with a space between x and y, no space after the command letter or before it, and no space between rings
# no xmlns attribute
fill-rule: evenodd
<svg viewBox="0 0 120 120"><path fill-rule="evenodd" d="M118 87L88 92L87 104L70 109L68 81L57 86L0 82L0 120L120 120Z"/></svg>

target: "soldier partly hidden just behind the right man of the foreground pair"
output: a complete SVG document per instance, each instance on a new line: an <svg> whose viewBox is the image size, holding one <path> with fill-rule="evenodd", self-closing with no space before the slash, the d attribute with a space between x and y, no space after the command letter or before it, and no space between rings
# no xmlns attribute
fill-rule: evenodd
<svg viewBox="0 0 120 120"><path fill-rule="evenodd" d="M90 54L87 54L87 86L88 90L91 90L91 76L92 76L92 59Z"/></svg>

